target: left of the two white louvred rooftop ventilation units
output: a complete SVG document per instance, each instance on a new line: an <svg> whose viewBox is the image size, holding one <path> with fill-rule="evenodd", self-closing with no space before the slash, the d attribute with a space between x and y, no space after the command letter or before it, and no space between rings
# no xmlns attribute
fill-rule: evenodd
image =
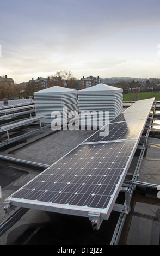
<svg viewBox="0 0 160 256"><path fill-rule="evenodd" d="M78 112L77 90L53 86L34 93L36 115L45 115L44 123L51 123L51 114L58 111L61 123L67 122L67 115L71 111ZM66 110L67 109L67 110ZM58 117L57 117L58 120Z"/></svg>

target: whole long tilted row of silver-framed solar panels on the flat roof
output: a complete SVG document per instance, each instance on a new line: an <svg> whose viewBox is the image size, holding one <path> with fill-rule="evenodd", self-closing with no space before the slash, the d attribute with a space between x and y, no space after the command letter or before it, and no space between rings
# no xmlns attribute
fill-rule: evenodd
<svg viewBox="0 0 160 256"><path fill-rule="evenodd" d="M109 124L109 135L97 131L7 198L13 205L65 214L100 214L108 219L133 159L155 99L127 109ZM147 106L148 107L148 106ZM135 113L134 112L134 113ZM140 113L145 117L141 119ZM128 118L130 116L130 120ZM135 118L135 119L134 119ZM138 118L138 119L137 119ZM119 120L119 122L118 122Z"/></svg>

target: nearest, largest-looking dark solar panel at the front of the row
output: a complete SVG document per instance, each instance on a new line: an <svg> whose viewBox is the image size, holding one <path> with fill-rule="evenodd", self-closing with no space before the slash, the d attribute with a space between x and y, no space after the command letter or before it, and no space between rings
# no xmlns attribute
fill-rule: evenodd
<svg viewBox="0 0 160 256"><path fill-rule="evenodd" d="M79 145L16 192L13 199L104 209L114 199L136 143Z"/></svg>

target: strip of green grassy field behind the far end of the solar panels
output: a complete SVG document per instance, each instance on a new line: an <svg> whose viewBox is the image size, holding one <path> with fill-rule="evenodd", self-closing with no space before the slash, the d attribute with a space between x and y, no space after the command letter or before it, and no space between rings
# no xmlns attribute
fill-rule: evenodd
<svg viewBox="0 0 160 256"><path fill-rule="evenodd" d="M124 101L137 101L155 97L160 101L160 92L139 92L139 93L126 93L124 94Z"/></svg>

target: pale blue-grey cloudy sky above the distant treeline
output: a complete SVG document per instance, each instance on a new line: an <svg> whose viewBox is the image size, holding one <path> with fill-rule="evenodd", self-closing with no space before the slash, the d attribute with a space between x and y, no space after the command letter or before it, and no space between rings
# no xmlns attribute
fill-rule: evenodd
<svg viewBox="0 0 160 256"><path fill-rule="evenodd" d="M5 0L0 76L160 78L159 0Z"/></svg>

